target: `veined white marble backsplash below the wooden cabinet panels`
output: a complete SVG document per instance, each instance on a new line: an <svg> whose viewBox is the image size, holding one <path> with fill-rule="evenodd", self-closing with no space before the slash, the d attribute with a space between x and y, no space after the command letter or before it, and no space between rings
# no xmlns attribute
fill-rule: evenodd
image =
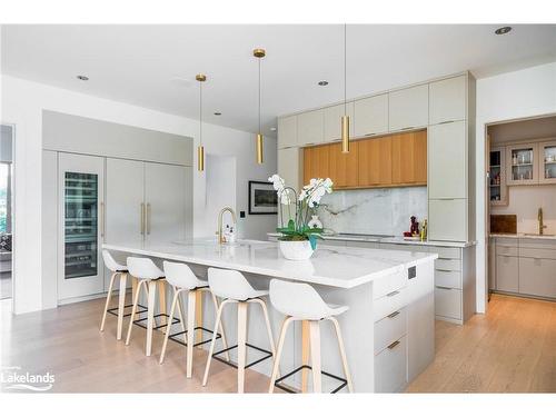
<svg viewBox="0 0 556 417"><path fill-rule="evenodd" d="M344 234L401 236L411 216L427 218L427 187L342 190L326 195L318 208L325 229Z"/></svg>

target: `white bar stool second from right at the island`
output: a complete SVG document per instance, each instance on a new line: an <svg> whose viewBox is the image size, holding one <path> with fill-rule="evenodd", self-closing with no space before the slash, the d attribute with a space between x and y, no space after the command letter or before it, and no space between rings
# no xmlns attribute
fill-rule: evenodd
<svg viewBox="0 0 556 417"><path fill-rule="evenodd" d="M238 393L244 393L245 386L245 370L256 364L259 364L262 360L266 360L270 357L276 357L275 342L272 338L272 330L270 329L270 319L268 318L268 310L266 302L260 299L260 297L267 296L267 290L256 290L251 287L251 285L247 281L244 275L237 270L227 270L227 269L217 269L209 268L208 269L208 280L210 290L217 297L224 298L224 301L220 304L218 308L218 312L216 316L215 331L212 332L212 340L210 342L209 356L207 359L207 367L205 368L205 377L202 378L202 386L207 385L208 374L210 369L210 361L212 357L215 359L224 361L218 357L219 354L225 351L229 351L231 349L238 349ZM247 307L249 304L258 304L262 308L262 314L265 316L265 321L267 326L268 340L270 342L270 351L261 349L257 346L250 345L247 342ZM228 347L225 350L220 350L215 354L215 342L217 338L217 329L222 319L222 310L224 307L228 304L237 304L238 305L238 336L237 336L237 345ZM246 354L247 347L254 348L261 353L267 354L265 357L252 361L251 364L246 365ZM234 364L228 361L228 365L236 367Z"/></svg>

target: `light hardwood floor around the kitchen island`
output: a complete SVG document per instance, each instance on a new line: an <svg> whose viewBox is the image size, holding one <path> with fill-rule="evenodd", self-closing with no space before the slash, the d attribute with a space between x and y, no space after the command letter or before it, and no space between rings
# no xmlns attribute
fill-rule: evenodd
<svg viewBox="0 0 556 417"><path fill-rule="evenodd" d="M206 353L195 349L186 378L185 347L168 344L159 365L162 334L145 356L145 330L130 346L116 340L116 318L98 331L103 299L11 316L1 301L2 366L56 376L58 393L235 393L236 369L214 361L202 387ZM349 360L349 358L348 358ZM246 371L246 391L265 393L269 379ZM556 393L556 302L494 296L487 316L465 326L436 324L435 361L408 393Z"/></svg>

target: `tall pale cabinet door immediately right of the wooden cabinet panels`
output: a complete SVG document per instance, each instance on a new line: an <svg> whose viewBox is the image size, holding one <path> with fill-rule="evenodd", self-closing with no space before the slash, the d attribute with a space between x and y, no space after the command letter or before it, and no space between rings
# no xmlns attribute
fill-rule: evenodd
<svg viewBox="0 0 556 417"><path fill-rule="evenodd" d="M428 197L466 198L466 122L428 128Z"/></svg>

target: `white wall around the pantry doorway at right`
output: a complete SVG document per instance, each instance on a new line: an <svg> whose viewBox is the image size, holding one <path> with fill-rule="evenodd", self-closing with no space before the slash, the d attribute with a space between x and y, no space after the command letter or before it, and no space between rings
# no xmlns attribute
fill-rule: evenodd
<svg viewBox="0 0 556 417"><path fill-rule="evenodd" d="M477 311L486 301L485 125L556 113L556 62L477 80Z"/></svg>

